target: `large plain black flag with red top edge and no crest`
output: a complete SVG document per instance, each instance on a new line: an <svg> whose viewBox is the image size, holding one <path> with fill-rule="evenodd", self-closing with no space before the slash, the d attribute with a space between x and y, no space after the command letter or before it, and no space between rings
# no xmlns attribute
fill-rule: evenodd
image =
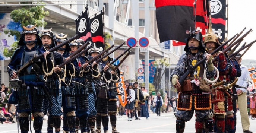
<svg viewBox="0 0 256 133"><path fill-rule="evenodd" d="M176 45L186 44L186 30L195 29L194 2L195 0L155 0L160 42L176 40Z"/></svg>

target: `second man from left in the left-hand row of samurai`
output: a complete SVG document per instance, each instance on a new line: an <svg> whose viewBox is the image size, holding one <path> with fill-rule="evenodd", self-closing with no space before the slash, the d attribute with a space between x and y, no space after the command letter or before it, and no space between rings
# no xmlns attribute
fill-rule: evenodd
<svg viewBox="0 0 256 133"><path fill-rule="evenodd" d="M53 32L51 30L45 30L41 34L43 46L49 50L52 47L55 47L55 42L53 41ZM60 65L63 63L63 58L60 53L53 51L52 57L54 66ZM48 70L50 71L50 70ZM62 93L60 88L59 77L64 76L64 70L61 70L59 67L54 67L54 73L47 75L46 85L49 89L49 95L51 98L51 104L49 100L45 99L45 111L44 114L48 111L48 121L47 121L47 133L53 133L53 127L55 128L55 133L60 133L60 116L63 115L61 110L61 99Z"/></svg>

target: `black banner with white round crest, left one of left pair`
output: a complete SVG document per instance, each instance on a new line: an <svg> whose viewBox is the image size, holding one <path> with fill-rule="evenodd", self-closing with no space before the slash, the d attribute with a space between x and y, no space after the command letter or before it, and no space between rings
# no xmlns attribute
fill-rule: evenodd
<svg viewBox="0 0 256 133"><path fill-rule="evenodd" d="M84 41L91 41L91 28L90 28L90 19L88 15L88 6L85 7L85 10L78 16L76 19L76 34L80 39Z"/></svg>

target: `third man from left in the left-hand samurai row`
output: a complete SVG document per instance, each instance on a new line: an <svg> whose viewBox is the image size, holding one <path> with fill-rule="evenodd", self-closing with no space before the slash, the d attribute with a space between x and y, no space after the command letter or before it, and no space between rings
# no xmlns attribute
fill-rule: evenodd
<svg viewBox="0 0 256 133"><path fill-rule="evenodd" d="M61 33L56 35L56 44L60 44L67 40L67 35ZM70 58L71 48L69 44L58 49L58 52L62 54L63 60L68 61ZM78 66L78 61L75 59L66 66L63 67L66 71L66 77L64 81L61 81L61 91L62 91L62 108L63 108L63 132L64 133L75 133L75 123L76 123L76 99L75 99L75 89L72 78L75 75L79 75L80 68Z"/></svg>

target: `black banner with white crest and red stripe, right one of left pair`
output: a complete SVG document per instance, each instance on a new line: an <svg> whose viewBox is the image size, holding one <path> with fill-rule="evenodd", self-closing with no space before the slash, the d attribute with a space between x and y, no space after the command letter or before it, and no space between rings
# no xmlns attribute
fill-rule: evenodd
<svg viewBox="0 0 256 133"><path fill-rule="evenodd" d="M97 48L105 48L104 45L104 12L101 10L90 17L92 42Z"/></svg>

